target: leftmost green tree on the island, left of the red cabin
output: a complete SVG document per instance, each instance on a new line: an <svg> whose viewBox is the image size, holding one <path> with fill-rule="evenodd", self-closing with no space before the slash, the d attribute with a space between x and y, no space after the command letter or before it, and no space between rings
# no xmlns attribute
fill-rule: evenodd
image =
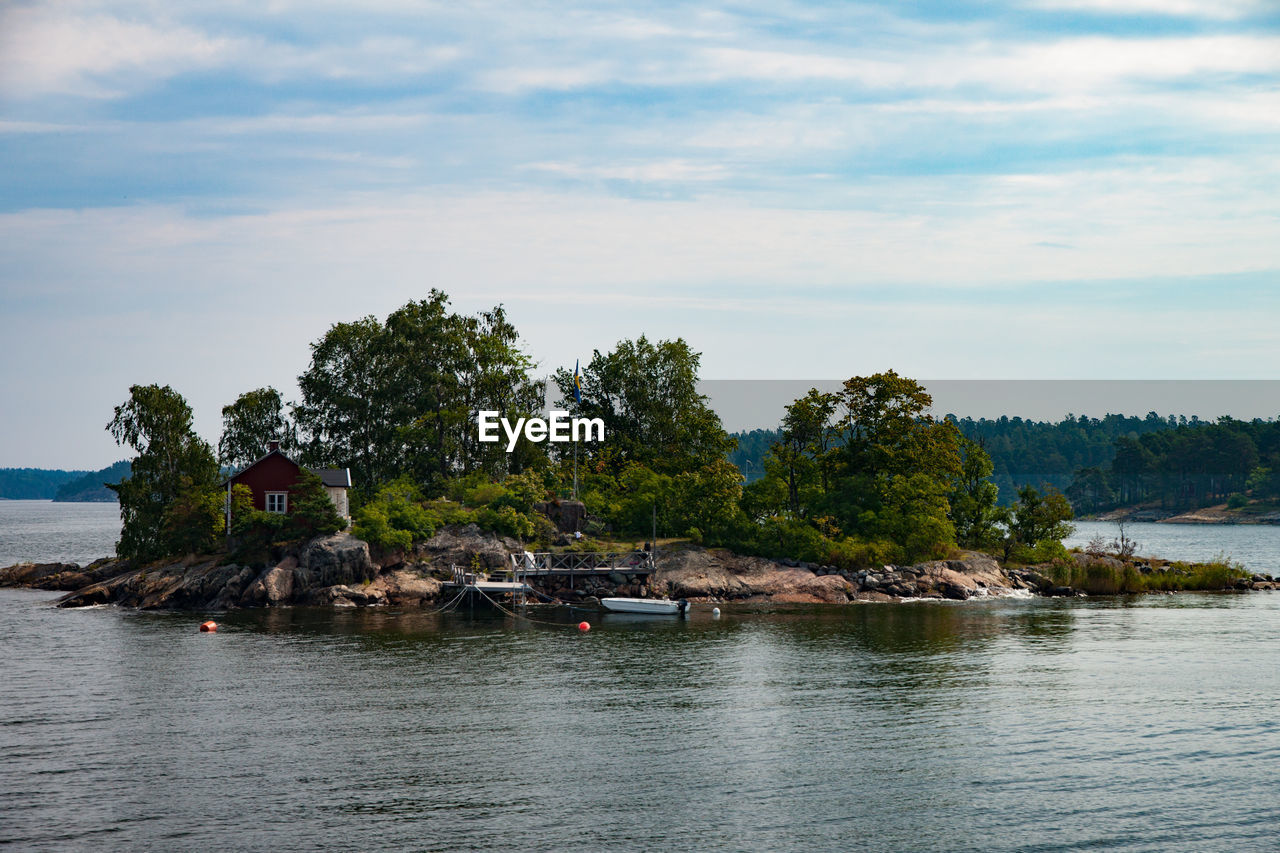
<svg viewBox="0 0 1280 853"><path fill-rule="evenodd" d="M132 386L106 428L137 452L129 476L110 484L120 501L116 553L146 562L184 552L180 519L198 519L205 494L218 488L218 461L192 429L191 406L169 386ZM183 506L173 507L179 497Z"/></svg>

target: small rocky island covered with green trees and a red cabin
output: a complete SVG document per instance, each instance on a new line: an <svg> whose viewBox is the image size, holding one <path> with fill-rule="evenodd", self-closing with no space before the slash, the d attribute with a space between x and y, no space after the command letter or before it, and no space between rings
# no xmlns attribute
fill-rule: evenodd
<svg viewBox="0 0 1280 853"><path fill-rule="evenodd" d="M223 409L216 453L178 392L133 386L108 425L136 453L108 485L123 520L115 557L12 566L0 583L68 590L65 606L430 605L458 567L500 574L526 551L626 552L650 540L660 546L650 571L549 574L534 589L561 602L847 603L1274 583L1226 564L1143 560L1123 533L1068 552L1066 494L1027 483L1002 496L984 441L931 415L927 389L892 370L786 406L750 482L732 461L736 438L698 393L700 355L682 339L621 341L554 373L554 406L603 424L596 441L481 441L477 412L515 421L549 397L518 341L500 306L463 316L439 291L384 321L337 324L311 347L300 401L259 388ZM1142 439L1130 443L1142 450ZM242 482L273 455L291 466L288 480L268 491ZM1213 488L1248 480L1265 492L1270 469L1257 461ZM1125 465L1117 455L1112 470ZM326 471L343 473L340 500Z"/></svg>

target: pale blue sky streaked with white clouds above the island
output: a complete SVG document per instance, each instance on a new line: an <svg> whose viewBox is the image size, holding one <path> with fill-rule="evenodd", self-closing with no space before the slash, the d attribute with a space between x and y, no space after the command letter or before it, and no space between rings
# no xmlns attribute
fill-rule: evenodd
<svg viewBox="0 0 1280 853"><path fill-rule="evenodd" d="M9 0L0 466L433 287L547 373L1276 379L1277 152L1276 0Z"/></svg>

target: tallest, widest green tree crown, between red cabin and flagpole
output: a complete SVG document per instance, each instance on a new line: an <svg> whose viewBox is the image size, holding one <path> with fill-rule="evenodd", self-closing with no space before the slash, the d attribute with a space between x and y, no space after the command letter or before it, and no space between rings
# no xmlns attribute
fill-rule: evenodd
<svg viewBox="0 0 1280 853"><path fill-rule="evenodd" d="M298 378L302 460L351 467L367 494L401 475L438 492L471 471L518 473L540 451L522 443L508 455L480 443L475 418L479 410L512 420L536 412L543 389L529 378L531 366L502 306L463 316L434 289L384 323L339 323L311 346Z"/></svg>

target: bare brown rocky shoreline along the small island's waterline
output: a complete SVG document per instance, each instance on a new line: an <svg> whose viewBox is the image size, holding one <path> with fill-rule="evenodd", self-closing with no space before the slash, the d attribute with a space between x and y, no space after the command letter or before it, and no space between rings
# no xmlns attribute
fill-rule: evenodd
<svg viewBox="0 0 1280 853"><path fill-rule="evenodd" d="M225 557L187 557L136 567L115 560L74 564L18 564L0 569L0 587L65 592L60 607L118 605L141 610L218 611L279 606L433 606L452 566L502 571L522 546L475 525L448 528L412 552L371 553L348 534L314 539L265 567ZM1078 555L1084 560L1084 555ZM1097 560L1097 557L1089 557ZM1082 564L1083 565L1083 564ZM1146 565L1147 571L1167 571ZM1083 596L1034 567L1006 569L988 555L959 560L849 571L796 560L744 557L728 551L682 546L659 555L650 574L532 579L539 597L563 603L598 603L608 596L689 598L704 602L831 603L920 598L964 601L984 596ZM1275 589L1268 575L1240 579L1234 589Z"/></svg>

